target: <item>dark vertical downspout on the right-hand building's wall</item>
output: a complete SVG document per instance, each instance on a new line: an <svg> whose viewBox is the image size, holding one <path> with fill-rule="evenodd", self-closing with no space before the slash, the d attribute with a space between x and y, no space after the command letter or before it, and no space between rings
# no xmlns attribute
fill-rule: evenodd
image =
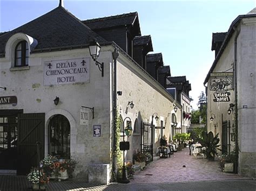
<svg viewBox="0 0 256 191"><path fill-rule="evenodd" d="M233 27L235 31L234 38L234 67L233 67L233 76L234 76L234 107L235 107L235 155L237 156L234 162L234 173L238 173L238 155L239 155L239 145L238 145L238 101L237 101L237 38L240 33L240 29Z"/></svg>

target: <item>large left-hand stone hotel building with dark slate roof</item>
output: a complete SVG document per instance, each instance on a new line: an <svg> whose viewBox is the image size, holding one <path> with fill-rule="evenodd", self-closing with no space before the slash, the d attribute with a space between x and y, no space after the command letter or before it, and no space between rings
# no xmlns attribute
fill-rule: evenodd
<svg viewBox="0 0 256 191"><path fill-rule="evenodd" d="M101 46L96 61L93 40ZM61 3L0 33L0 169L26 174L38 156L53 154L76 159L77 176L88 177L90 164L108 164L110 177L116 116L126 119L121 134L127 121L133 129L125 161L144 146L156 152L160 137L170 137L173 115L181 127L181 105L147 72L152 50L137 12L79 20Z"/></svg>

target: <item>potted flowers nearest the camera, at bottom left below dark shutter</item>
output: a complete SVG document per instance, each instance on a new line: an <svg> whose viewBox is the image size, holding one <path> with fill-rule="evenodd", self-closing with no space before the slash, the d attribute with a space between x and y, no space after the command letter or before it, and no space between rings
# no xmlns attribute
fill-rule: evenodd
<svg viewBox="0 0 256 191"><path fill-rule="evenodd" d="M49 176L41 168L32 167L27 176L28 180L32 183L33 190L45 190L46 185L49 183Z"/></svg>

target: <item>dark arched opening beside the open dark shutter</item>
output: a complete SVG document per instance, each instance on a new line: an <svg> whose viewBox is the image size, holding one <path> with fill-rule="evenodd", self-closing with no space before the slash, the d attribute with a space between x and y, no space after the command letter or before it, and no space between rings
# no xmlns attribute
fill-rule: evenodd
<svg viewBox="0 0 256 191"><path fill-rule="evenodd" d="M48 153L59 158L70 159L70 123L60 114L53 116L48 125Z"/></svg>

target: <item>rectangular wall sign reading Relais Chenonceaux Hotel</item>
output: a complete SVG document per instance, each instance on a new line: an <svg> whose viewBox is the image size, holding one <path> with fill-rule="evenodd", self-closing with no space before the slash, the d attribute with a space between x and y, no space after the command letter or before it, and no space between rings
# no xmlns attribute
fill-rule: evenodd
<svg viewBox="0 0 256 191"><path fill-rule="evenodd" d="M90 58L44 62L44 85L89 82Z"/></svg>

